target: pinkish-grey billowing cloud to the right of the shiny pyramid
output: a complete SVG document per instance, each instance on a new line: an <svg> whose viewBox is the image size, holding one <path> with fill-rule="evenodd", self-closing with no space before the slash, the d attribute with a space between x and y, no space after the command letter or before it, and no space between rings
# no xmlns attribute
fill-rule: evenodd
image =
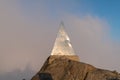
<svg viewBox="0 0 120 80"><path fill-rule="evenodd" d="M120 45L114 45L109 34L110 27L105 20L90 15L82 18L69 16L66 20L71 27L71 38L81 61L99 68L120 71L120 51L117 50Z"/></svg>

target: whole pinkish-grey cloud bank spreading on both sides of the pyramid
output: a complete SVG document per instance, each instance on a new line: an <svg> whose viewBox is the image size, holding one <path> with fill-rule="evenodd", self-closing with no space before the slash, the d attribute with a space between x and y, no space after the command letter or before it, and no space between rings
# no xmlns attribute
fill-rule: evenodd
<svg viewBox="0 0 120 80"><path fill-rule="evenodd" d="M30 79L39 71L52 51L61 20L80 61L120 72L120 44L111 39L105 19L78 17L62 8L55 18L42 1L27 14L18 3L0 1L0 80Z"/></svg>

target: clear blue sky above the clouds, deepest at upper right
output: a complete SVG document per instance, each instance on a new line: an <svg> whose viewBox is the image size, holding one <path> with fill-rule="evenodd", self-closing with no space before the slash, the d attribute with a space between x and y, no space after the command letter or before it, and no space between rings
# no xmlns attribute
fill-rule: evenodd
<svg viewBox="0 0 120 80"><path fill-rule="evenodd" d="M33 13L42 2L43 7L48 10L48 15L53 18L61 17L60 11L76 15L78 17L85 15L93 15L105 19L110 26L110 34L113 40L120 40L120 1L119 0L21 0L25 13L34 17ZM36 6L37 5L37 6ZM41 5L41 4L40 4Z"/></svg>

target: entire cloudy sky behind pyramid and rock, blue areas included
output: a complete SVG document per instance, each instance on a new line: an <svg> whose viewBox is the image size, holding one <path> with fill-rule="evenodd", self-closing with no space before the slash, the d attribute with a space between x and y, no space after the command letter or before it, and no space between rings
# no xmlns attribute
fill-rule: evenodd
<svg viewBox="0 0 120 80"><path fill-rule="evenodd" d="M0 0L0 80L29 80L39 71L61 21L81 62L120 72L119 3Z"/></svg>

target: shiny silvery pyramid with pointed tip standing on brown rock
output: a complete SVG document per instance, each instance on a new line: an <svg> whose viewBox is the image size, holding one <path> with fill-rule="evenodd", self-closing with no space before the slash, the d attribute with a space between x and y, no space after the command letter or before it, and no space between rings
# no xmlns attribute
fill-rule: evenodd
<svg viewBox="0 0 120 80"><path fill-rule="evenodd" d="M60 29L51 55L75 55L70 39L64 29L63 22L60 24Z"/></svg>

